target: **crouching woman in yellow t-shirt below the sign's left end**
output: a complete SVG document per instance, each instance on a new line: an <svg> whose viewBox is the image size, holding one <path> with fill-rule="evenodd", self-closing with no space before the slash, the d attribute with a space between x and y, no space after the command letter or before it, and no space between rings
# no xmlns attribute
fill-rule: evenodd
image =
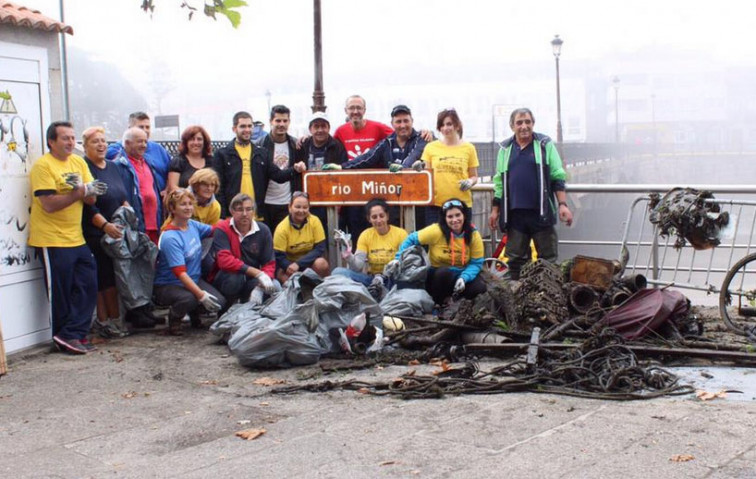
<svg viewBox="0 0 756 479"><path fill-rule="evenodd" d="M320 277L330 273L323 258L326 237L317 216L310 214L307 193L295 191L289 201L289 216L276 226L273 250L276 255L276 279L284 284L297 271L312 268Z"/></svg>

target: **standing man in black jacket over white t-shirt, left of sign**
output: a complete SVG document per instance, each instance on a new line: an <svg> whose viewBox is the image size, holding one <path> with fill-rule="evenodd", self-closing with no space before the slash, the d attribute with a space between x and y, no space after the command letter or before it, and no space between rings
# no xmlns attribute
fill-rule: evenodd
<svg viewBox="0 0 756 479"><path fill-rule="evenodd" d="M289 135L290 110L284 105L276 105L270 109L270 133L260 140L258 146L265 149L271 162L278 168L285 170L304 160L304 150L296 147L296 138ZM305 163L302 163L304 165ZM271 231L275 231L278 223L289 214L291 193L301 190L301 174L286 183L268 181L265 192L265 224Z"/></svg>

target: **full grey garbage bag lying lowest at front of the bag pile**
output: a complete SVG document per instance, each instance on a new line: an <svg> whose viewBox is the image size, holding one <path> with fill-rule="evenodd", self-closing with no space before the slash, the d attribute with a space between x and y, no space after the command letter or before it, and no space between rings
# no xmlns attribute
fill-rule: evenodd
<svg viewBox="0 0 756 479"><path fill-rule="evenodd" d="M314 364L321 351L304 322L265 317L240 323L229 338L228 347L239 364L253 368Z"/></svg>

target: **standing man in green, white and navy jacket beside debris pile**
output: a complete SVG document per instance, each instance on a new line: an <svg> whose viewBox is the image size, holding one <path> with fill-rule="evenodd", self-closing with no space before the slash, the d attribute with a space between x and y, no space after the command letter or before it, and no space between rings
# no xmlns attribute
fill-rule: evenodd
<svg viewBox="0 0 756 479"><path fill-rule="evenodd" d="M518 108L509 117L514 135L501 143L494 198L488 218L491 229L507 233L509 275L520 279L522 266L530 261L530 241L538 257L557 260L557 218L572 224L567 206L562 159L551 139L533 131L535 117L528 108ZM556 201L554 201L556 200Z"/></svg>

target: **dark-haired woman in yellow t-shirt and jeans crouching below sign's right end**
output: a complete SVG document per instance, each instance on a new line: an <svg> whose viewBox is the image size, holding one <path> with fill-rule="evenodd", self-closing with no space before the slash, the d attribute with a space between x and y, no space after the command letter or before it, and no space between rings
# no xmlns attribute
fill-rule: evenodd
<svg viewBox="0 0 756 479"><path fill-rule="evenodd" d="M365 211L372 228L362 232L354 254L351 245L347 245L343 255L348 268L336 268L333 274L347 276L365 286L385 284L383 268L394 259L399 245L407 238L407 232L389 224L386 200L374 198L368 201Z"/></svg>

